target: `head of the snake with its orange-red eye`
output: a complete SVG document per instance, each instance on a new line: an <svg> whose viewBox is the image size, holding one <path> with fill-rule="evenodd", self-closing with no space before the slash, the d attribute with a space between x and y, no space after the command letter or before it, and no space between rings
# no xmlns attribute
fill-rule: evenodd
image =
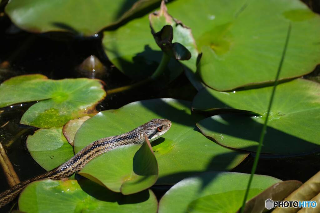
<svg viewBox="0 0 320 213"><path fill-rule="evenodd" d="M147 135L149 141L154 141L166 133L171 127L171 121L167 119L152 119L149 122L141 125L144 133Z"/></svg>

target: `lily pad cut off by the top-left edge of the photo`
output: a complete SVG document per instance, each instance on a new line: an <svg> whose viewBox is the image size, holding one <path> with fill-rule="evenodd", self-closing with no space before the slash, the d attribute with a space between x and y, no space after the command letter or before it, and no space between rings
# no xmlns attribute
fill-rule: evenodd
<svg viewBox="0 0 320 213"><path fill-rule="evenodd" d="M5 12L15 25L33 33L66 31L90 36L158 1L12 0L5 7Z"/></svg>

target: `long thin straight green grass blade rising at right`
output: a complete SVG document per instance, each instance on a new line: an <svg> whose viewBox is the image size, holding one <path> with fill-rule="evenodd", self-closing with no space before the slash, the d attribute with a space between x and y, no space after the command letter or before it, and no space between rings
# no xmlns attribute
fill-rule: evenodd
<svg viewBox="0 0 320 213"><path fill-rule="evenodd" d="M267 130L267 123L268 123L268 118L269 118L269 114L270 114L270 110L271 110L271 106L272 106L272 102L273 102L273 97L274 97L275 92L276 92L276 86L278 84L280 71L281 71L281 68L282 68L285 52L287 50L287 46L288 46L288 42L289 42L290 32L291 32L291 23L289 24L289 27L288 27L287 37L286 37L286 40L285 40L285 43L284 43L284 49L283 49L283 52L282 52L282 57L281 57L281 60L280 60L280 63L279 63L279 67L278 67L278 71L277 71L277 74L276 74L275 84L274 84L274 86L272 88L272 93L271 93L271 97L270 97L270 101L269 101L269 105L268 105L267 116L265 118L265 121L264 121L264 124L263 124L263 127L262 127L260 140L259 140L259 145L258 145L258 148L257 148L257 153L256 153L256 156L254 158L254 162L253 162L253 166L252 166L252 170L251 170L251 175L250 175L250 178L249 178L248 186L247 186L247 189L246 189L245 194L244 194L244 199L243 199L242 207L241 207L241 213L244 212L244 207L245 207L245 203L247 201L247 197L248 197L248 194L249 194L251 182L252 182L254 173L256 172L256 169L257 169L257 165L258 165L259 156L260 156L260 153L261 153L263 139L264 139L264 136L265 136L266 130Z"/></svg>

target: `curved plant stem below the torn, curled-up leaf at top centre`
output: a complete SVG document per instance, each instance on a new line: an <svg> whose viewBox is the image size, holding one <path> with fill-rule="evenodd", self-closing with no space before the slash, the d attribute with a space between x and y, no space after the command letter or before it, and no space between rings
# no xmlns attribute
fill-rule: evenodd
<svg viewBox="0 0 320 213"><path fill-rule="evenodd" d="M160 64L158 65L156 71L147 79L139 81L137 83L131 84L131 85L127 85L124 87L118 87L118 88L114 88L114 89L108 89L106 92L107 94L112 94L112 93L118 93L118 92L123 92L125 90L129 90L129 89L133 89L133 88L137 88L137 87L141 87L147 83L150 83L154 80L156 80L157 78L159 78L165 68L167 67L168 63L170 61L170 56L168 56L167 54L163 53Z"/></svg>

